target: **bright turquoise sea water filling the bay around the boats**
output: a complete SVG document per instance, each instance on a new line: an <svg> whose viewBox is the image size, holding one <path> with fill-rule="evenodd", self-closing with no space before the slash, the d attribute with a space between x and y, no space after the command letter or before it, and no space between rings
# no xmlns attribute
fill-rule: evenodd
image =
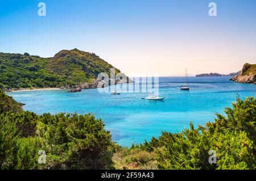
<svg viewBox="0 0 256 181"><path fill-rule="evenodd" d="M214 113L223 113L232 106L237 92L241 98L255 96L256 85L234 83L229 77L190 77L191 90L179 88L184 77L159 79L160 96L164 101L141 99L146 93L110 95L97 89L68 93L66 90L9 92L24 110L44 112L93 113L102 118L113 140L123 146L158 137L162 131L180 132L189 126L214 121Z"/></svg>

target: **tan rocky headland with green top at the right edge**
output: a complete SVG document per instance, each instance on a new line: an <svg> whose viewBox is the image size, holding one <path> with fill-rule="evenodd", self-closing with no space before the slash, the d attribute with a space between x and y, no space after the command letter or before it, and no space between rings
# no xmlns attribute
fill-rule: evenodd
<svg viewBox="0 0 256 181"><path fill-rule="evenodd" d="M256 64L245 64L240 74L232 77L230 81L256 84Z"/></svg>

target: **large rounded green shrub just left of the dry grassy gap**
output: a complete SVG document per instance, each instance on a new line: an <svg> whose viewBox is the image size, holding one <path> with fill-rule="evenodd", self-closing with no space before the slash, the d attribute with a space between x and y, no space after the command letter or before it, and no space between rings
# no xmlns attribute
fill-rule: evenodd
<svg viewBox="0 0 256 181"><path fill-rule="evenodd" d="M59 113L44 114L42 123L40 137L46 138L49 154L59 161L49 163L52 169L112 168L111 135L102 120L92 115Z"/></svg>

